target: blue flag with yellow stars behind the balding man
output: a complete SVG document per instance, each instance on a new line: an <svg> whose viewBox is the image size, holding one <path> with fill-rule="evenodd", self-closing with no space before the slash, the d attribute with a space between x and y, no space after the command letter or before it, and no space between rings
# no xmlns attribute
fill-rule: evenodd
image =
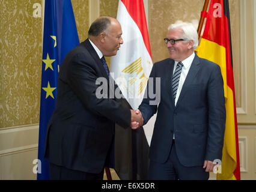
<svg viewBox="0 0 256 192"><path fill-rule="evenodd" d="M71 0L46 0L38 140L38 180L49 179L49 162L44 158L44 145L47 124L55 109L59 67L66 54L78 44L78 31Z"/></svg>

